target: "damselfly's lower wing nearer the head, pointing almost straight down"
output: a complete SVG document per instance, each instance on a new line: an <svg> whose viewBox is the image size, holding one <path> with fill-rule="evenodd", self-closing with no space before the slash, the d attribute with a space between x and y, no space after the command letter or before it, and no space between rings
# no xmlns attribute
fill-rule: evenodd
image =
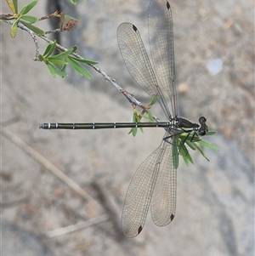
<svg viewBox="0 0 255 256"><path fill-rule="evenodd" d="M166 134L167 135L167 134ZM173 168L173 142L163 141L164 154L158 159L159 171L151 197L150 211L156 225L169 224L176 209L176 169Z"/></svg>

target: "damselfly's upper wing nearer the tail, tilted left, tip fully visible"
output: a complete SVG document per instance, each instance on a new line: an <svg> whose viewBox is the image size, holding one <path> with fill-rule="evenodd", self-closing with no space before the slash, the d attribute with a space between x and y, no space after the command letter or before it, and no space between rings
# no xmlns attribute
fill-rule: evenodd
<svg viewBox="0 0 255 256"><path fill-rule="evenodd" d="M117 39L130 75L147 94L157 95L165 115L171 117L137 27L131 23L122 23L117 29Z"/></svg>

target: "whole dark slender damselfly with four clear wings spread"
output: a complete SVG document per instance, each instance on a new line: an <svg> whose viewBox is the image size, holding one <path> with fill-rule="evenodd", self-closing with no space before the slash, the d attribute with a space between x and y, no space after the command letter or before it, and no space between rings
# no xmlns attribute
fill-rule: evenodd
<svg viewBox="0 0 255 256"><path fill-rule="evenodd" d="M117 40L127 70L147 94L156 95L168 121L42 123L39 127L43 129L160 127L166 130L161 145L140 165L127 190L122 213L122 230L125 236L133 237L143 230L149 207L156 225L164 226L173 220L176 209L178 145L180 141L184 144L194 138L199 139L200 136L207 134L208 128L205 117L199 118L199 124L178 117L174 83L173 20L167 0L150 1L149 43L155 72L136 26L122 23L117 29ZM167 106L165 95L169 97L172 112ZM186 139L179 139L181 134L187 134Z"/></svg>

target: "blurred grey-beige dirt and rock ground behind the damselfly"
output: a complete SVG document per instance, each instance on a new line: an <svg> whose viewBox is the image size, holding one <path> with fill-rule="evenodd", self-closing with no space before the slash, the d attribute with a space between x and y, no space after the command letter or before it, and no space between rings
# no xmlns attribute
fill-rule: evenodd
<svg viewBox="0 0 255 256"><path fill-rule="evenodd" d="M62 44L77 44L85 58L142 102L150 98L133 82L116 42L116 28L129 21L148 47L150 1L85 1L65 13L77 28ZM28 3L21 0L20 6ZM219 152L210 162L192 152L195 164L178 168L177 213L159 228L150 213L143 232L121 231L127 186L139 164L160 144L163 131L39 130L41 122L128 122L132 107L95 71L85 80L70 73L54 79L34 62L34 44L24 31L9 37L1 23L3 255L253 255L254 254L254 25L252 1L170 1L173 10L176 80L181 116L204 115ZM8 12L5 3L2 12ZM46 14L40 1L33 14ZM47 22L43 22L49 30ZM39 40L43 52L45 43ZM222 68L212 74L213 60ZM218 66L218 65L217 65ZM220 66L220 65L219 65ZM165 120L159 107L153 113ZM10 134L11 133L11 134ZM41 158L14 144L19 138ZM93 199L63 184L42 162L53 163ZM46 164L46 163L45 163ZM53 231L87 225L63 235ZM77 227L77 226L76 226ZM53 237L54 236L54 237Z"/></svg>

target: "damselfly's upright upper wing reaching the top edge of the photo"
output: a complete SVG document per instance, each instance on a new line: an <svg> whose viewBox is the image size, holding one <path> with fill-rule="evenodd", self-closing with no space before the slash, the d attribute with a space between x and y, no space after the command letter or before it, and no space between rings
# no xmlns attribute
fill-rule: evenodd
<svg viewBox="0 0 255 256"><path fill-rule="evenodd" d="M167 0L151 0L149 7L149 42L156 76L170 97L173 116L178 116L174 83L173 19Z"/></svg>

